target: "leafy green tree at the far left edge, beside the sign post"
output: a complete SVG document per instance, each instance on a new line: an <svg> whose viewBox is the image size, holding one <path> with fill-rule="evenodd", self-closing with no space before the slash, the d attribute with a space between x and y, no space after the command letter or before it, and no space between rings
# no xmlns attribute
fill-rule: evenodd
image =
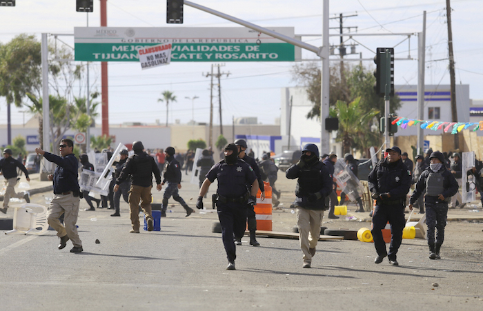
<svg viewBox="0 0 483 311"><path fill-rule="evenodd" d="M10 105L22 106L27 92L40 93L41 44L33 35L20 34L0 44L0 96L6 97L8 143L10 143Z"/></svg>

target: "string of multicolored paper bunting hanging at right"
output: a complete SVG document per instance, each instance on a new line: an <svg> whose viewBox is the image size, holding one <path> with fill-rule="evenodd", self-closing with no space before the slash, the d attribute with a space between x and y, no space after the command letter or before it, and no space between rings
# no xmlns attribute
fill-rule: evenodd
<svg viewBox="0 0 483 311"><path fill-rule="evenodd" d="M443 130L445 133L451 131L451 134L457 134L462 130L467 130L471 126L475 126L473 128L473 132L476 130L483 130L483 121L479 122L443 122L443 121L426 121L426 120L417 120L417 119L408 119L405 117L395 117L395 119L391 122L391 124L397 124L401 128L408 128L408 126L418 126L417 123L420 123L419 126L421 128L425 128L427 130Z"/></svg>

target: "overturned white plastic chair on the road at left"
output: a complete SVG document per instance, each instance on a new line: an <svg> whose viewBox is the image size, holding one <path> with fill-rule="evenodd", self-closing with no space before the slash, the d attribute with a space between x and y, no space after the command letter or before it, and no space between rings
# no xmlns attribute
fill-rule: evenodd
<svg viewBox="0 0 483 311"><path fill-rule="evenodd" d="M48 230L47 208L45 206L26 203L13 208L13 230L7 231L5 234L14 232L43 234Z"/></svg>

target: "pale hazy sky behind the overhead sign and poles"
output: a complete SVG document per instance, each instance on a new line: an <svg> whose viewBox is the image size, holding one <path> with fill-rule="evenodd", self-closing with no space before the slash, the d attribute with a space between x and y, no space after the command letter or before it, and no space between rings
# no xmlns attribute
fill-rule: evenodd
<svg viewBox="0 0 483 311"><path fill-rule="evenodd" d="M87 15L90 27L100 26L99 0L94 1L94 12L76 12L75 0L17 0L14 8L0 7L0 43L26 33L41 39L41 33L73 34L74 27L85 27ZM320 0L194 0L201 6L224 12L262 27L294 27L295 34L308 34L302 41L322 46L322 1ZM401 33L422 32L423 11L426 11L426 84L449 84L448 30L446 0L344 0L329 2L331 34L339 32L339 14L355 15L343 20L344 27L359 34L381 34L348 37L355 43L356 53L347 59L373 59L377 47L395 48L395 84L417 84L417 36ZM453 50L456 83L469 84L470 98L483 99L483 1L451 0ZM206 12L184 6L184 24L166 24L166 1L108 0L109 27L241 27ZM357 30L355 29L357 27ZM349 32L345 29L344 32ZM382 35L391 34L391 35ZM74 46L72 36L59 37ZM338 45L339 37L330 37ZM303 51L302 59L319 61L313 52ZM331 59L338 59L337 55ZM352 65L357 61L347 62ZM364 66L375 68L372 60ZM210 78L209 62L170 63L168 66L141 70L139 63L108 63L109 122L166 122L166 105L158 101L161 93L169 90L177 98L170 104L169 123L209 122ZM275 124L280 117L282 88L297 86L293 79L295 62L215 63L221 72L221 107L224 125L232 118L257 117L262 124ZM100 63L90 64L92 90L101 89ZM85 90L83 90L85 92ZM217 88L213 94L218 94ZM188 99L186 98L188 97ZM198 97L191 100L193 97ZM28 100L28 99L27 99ZM28 101L26 100L26 103ZM218 98L213 99L215 125L219 124ZM12 108L12 124L23 124L32 117L26 108ZM97 123L100 124L100 109ZM6 101L0 97L0 124L5 124Z"/></svg>

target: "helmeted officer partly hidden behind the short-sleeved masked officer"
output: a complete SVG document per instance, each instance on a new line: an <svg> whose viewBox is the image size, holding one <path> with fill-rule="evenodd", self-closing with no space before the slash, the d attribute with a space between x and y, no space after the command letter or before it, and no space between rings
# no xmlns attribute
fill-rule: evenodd
<svg viewBox="0 0 483 311"><path fill-rule="evenodd" d="M238 157L248 163L253 168L253 172L255 172L255 175L257 176L257 181L258 181L258 187L260 189L260 200L265 199L265 189L264 189L264 181L262 179L262 176L260 175L260 170L258 168L257 162L255 159L252 157L248 157L248 155L245 153L245 150L247 148L246 146L246 141L244 139L237 139L235 141L235 146L238 148ZM252 184L247 184L248 190L251 192L251 187ZM258 190L257 190L258 192ZM250 231L250 245L253 246L258 246L260 243L258 243L257 239L255 239L255 231L257 231L257 219L256 219L256 214L255 210L253 210L253 205L248 205L246 210L246 217L248 219L248 231ZM242 245L242 238L237 239L235 241L235 244L237 245Z"/></svg>

